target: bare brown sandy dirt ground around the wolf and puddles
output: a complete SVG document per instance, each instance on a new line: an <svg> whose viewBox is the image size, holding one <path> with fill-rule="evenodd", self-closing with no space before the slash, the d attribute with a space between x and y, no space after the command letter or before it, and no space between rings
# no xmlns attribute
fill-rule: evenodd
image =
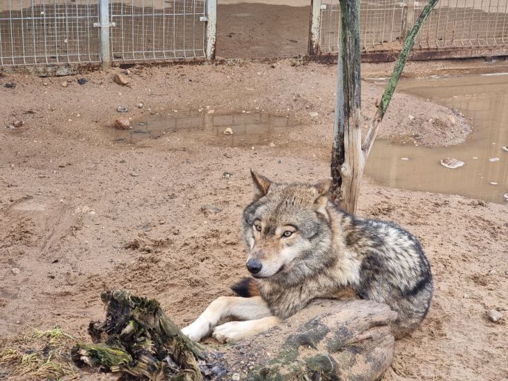
<svg viewBox="0 0 508 381"><path fill-rule="evenodd" d="M100 292L111 288L155 297L177 324L186 325L247 274L239 226L253 196L248 169L278 181L329 174L334 65L286 60L134 68L127 74L131 86L113 82L118 71L65 79L0 77L1 123L24 121L0 132L4 341L55 324L86 339L88 322L103 318ZM81 77L88 83L77 84ZM15 88L4 86L10 82ZM365 123L381 91L363 84ZM143 107L136 107L140 102ZM116 111L119 105L129 108L127 114ZM231 147L192 128L136 145L116 141L112 124L119 116L135 121L190 111L264 111L301 126L267 145ZM380 136L407 134L404 119L421 114L442 130L439 141L429 128L417 131L421 143L458 143L469 127L461 118L447 123L451 113L397 94ZM506 206L365 179L358 214L408 228L420 238L434 273L429 316L396 343L387 378L506 379ZM505 317L490 322L489 309Z"/></svg>

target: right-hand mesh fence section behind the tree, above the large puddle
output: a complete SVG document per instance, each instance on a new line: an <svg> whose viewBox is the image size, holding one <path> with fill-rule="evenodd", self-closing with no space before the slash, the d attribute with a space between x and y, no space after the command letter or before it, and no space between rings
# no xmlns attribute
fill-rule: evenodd
<svg viewBox="0 0 508 381"><path fill-rule="evenodd" d="M426 0L360 1L363 55L377 61L383 53L398 52L425 3ZM311 8L309 54L337 54L339 0L313 0ZM506 55L507 16L508 0L440 0L420 29L413 58Z"/></svg>

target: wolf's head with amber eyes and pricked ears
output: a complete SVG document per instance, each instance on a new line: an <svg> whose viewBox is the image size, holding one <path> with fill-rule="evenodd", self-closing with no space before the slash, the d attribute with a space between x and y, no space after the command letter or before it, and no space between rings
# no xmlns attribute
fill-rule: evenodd
<svg viewBox="0 0 508 381"><path fill-rule="evenodd" d="M322 254L332 240L326 210L331 180L280 184L251 174L258 194L244 210L248 271L255 278L294 283L323 267Z"/></svg>

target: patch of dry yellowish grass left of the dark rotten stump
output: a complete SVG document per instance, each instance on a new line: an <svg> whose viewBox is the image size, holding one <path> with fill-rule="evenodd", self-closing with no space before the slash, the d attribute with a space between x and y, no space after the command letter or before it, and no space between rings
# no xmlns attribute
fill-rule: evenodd
<svg viewBox="0 0 508 381"><path fill-rule="evenodd" d="M58 380L74 375L70 359L76 339L56 326L46 331L33 329L29 336L0 344L0 368L9 379Z"/></svg>

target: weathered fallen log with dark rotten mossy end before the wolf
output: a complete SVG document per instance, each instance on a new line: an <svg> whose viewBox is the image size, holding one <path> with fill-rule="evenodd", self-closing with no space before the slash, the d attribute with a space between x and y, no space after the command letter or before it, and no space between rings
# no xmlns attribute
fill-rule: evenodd
<svg viewBox="0 0 508 381"><path fill-rule="evenodd" d="M205 350L189 341L159 303L116 290L102 294L105 322L91 322L96 343L78 344L79 366L149 380L377 380L393 359L385 304L318 300L277 327L234 345ZM215 348L215 347L214 347Z"/></svg>

